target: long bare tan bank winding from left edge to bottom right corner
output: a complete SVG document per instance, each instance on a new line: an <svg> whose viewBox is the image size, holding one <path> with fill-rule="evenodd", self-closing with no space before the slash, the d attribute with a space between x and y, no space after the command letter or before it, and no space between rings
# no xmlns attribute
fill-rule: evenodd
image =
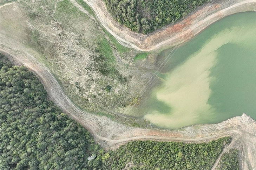
<svg viewBox="0 0 256 170"><path fill-rule="evenodd" d="M78 109L63 93L50 71L32 55L4 44L1 44L1 53L12 62L25 65L33 71L41 79L51 99L71 118L88 129L105 148L114 149L131 140L205 142L222 136L232 136L231 144L224 151L237 148L242 169L256 169L256 121L246 114L214 125L195 125L177 130L132 128L105 116L95 116Z"/></svg>

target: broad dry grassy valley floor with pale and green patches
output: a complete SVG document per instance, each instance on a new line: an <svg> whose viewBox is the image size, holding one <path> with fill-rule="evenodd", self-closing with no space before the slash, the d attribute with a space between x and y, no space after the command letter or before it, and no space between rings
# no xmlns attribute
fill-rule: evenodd
<svg viewBox="0 0 256 170"><path fill-rule="evenodd" d="M17 1L3 11L3 42L12 37L29 54L38 52L35 57L83 110L107 116L116 113L109 109L124 111L149 79L129 65L138 51L120 45L71 1Z"/></svg>

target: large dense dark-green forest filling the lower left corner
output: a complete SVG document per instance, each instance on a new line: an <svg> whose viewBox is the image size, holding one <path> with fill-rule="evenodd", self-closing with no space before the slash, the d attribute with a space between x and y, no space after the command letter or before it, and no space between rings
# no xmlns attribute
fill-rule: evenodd
<svg viewBox="0 0 256 170"><path fill-rule="evenodd" d="M94 147L90 133L47 99L31 71L0 57L0 169L78 169Z"/></svg>

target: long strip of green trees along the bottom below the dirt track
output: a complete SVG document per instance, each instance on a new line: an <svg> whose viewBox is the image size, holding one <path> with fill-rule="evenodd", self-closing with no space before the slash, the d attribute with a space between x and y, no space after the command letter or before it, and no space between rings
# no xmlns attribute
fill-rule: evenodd
<svg viewBox="0 0 256 170"><path fill-rule="evenodd" d="M231 137L223 137L208 143L132 141L115 151L101 151L88 169L211 169L218 155Z"/></svg>

